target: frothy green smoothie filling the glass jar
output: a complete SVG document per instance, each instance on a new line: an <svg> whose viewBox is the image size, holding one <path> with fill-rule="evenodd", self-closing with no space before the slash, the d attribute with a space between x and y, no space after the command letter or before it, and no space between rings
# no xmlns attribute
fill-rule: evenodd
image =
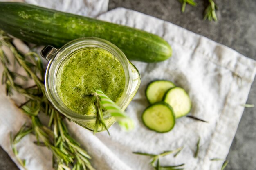
<svg viewBox="0 0 256 170"><path fill-rule="evenodd" d="M117 102L124 91L125 74L122 65L110 52L101 48L84 48L63 63L56 83L58 95L68 108L77 114L96 115L92 92L101 89ZM113 120L106 121L106 124L110 123Z"/></svg>

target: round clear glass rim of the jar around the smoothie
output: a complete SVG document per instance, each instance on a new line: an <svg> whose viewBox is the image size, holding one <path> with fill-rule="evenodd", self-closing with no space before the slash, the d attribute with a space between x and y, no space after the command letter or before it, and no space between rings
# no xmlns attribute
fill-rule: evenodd
<svg viewBox="0 0 256 170"><path fill-rule="evenodd" d="M57 52L53 59L51 59L47 65L47 69L45 72L45 89L46 96L49 101L54 105L54 107L60 111L62 114L67 116L68 118L75 121L85 121L85 120L94 120L96 115L81 115L76 113L75 111L68 108L61 98L58 95L56 86L56 78L58 74L58 69L65 62L64 59L69 57L74 51L82 49L82 48L102 48L110 52L114 57L117 58L119 63L122 65L125 74L125 88L124 91L117 101L117 105L119 107L124 107L126 103L127 95L130 94L132 87L132 70L129 67L129 61L126 58L125 54L114 44L110 43L107 40L97 38L97 37L83 37L79 39L74 39L73 41L68 42L64 46L62 46ZM103 118L110 118L110 114L106 112L103 115Z"/></svg>

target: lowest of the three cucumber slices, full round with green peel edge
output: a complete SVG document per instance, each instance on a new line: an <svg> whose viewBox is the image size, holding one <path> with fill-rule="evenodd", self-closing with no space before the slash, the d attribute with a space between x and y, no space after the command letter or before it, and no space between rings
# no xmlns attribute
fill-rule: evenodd
<svg viewBox="0 0 256 170"><path fill-rule="evenodd" d="M170 105L165 102L157 102L144 110L142 121L148 129L164 133L173 129L175 115Z"/></svg>

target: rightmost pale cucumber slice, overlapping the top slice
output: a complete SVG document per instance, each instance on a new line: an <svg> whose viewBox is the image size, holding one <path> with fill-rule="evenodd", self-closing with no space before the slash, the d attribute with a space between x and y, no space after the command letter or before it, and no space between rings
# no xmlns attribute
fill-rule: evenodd
<svg viewBox="0 0 256 170"><path fill-rule="evenodd" d="M191 110L189 95L181 87L173 87L164 95L164 102L168 103L175 113L176 118L185 116Z"/></svg>

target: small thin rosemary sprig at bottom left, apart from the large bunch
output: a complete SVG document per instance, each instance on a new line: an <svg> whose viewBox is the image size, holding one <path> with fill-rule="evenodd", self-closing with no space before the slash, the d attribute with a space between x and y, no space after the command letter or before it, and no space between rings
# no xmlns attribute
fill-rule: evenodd
<svg viewBox="0 0 256 170"><path fill-rule="evenodd" d="M10 133L10 141L11 141L11 148L13 150L14 155L16 156L18 162L20 163L20 165L27 170L27 168L25 167L26 165L26 161L25 160L21 160L20 157L18 157L18 150L16 148L16 144L18 144L18 142L20 142L20 140L26 136L27 134L31 133L33 130L31 127L27 127L26 124L23 124L23 126L21 126L20 130L16 133L16 135L13 137L13 134Z"/></svg>

